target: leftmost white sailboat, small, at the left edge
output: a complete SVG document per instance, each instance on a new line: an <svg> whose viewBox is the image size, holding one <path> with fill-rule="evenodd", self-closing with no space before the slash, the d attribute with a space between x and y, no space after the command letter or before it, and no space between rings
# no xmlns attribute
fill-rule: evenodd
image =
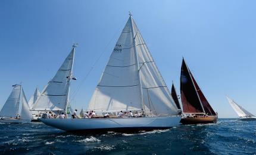
<svg viewBox="0 0 256 155"><path fill-rule="evenodd" d="M30 122L32 114L24 94L22 85L13 85L13 91L0 111L0 122Z"/></svg>

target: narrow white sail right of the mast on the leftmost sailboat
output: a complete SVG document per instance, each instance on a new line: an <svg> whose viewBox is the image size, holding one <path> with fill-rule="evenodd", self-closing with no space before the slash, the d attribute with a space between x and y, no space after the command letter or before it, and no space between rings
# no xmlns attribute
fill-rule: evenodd
<svg viewBox="0 0 256 155"><path fill-rule="evenodd" d="M26 95L21 88L21 112L20 112L20 119L22 120L32 120L32 114L29 110L29 104L27 104Z"/></svg>

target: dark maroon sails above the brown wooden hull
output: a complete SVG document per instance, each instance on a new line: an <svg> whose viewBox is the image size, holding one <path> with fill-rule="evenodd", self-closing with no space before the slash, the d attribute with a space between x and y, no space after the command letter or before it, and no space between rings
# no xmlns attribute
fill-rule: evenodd
<svg viewBox="0 0 256 155"><path fill-rule="evenodd" d="M217 115L193 78L184 59L182 60L182 69L180 73L180 93L183 112Z"/></svg>

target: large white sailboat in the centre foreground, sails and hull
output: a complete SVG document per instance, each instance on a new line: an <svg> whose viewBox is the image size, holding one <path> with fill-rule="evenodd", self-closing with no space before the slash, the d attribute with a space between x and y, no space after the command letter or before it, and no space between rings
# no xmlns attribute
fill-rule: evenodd
<svg viewBox="0 0 256 155"><path fill-rule="evenodd" d="M47 119L46 125L65 131L139 131L177 126L180 116L148 47L130 15L121 32L87 111L108 118ZM144 117L117 117L117 112L142 112Z"/></svg>

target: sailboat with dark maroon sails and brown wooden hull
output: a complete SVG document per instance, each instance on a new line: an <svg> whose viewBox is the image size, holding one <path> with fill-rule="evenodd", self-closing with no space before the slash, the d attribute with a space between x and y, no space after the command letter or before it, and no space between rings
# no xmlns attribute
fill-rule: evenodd
<svg viewBox="0 0 256 155"><path fill-rule="evenodd" d="M217 114L193 78L184 58L180 73L180 94L183 106L182 124L217 122Z"/></svg>

